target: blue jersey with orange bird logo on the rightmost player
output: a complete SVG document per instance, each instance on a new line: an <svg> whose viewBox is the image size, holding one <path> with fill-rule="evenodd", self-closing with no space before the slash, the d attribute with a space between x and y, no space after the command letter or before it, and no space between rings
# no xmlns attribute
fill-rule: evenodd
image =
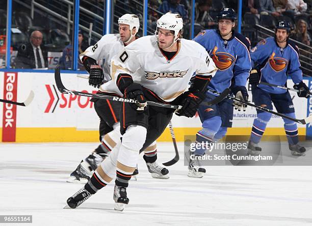
<svg viewBox="0 0 312 226"><path fill-rule="evenodd" d="M288 41L285 48L280 48L273 37L259 42L250 53L251 63L261 69L261 81L285 86L287 76L290 76L295 84L302 81L302 71L299 68L299 49ZM270 93L284 93L286 90L267 85L258 85L259 88Z"/></svg>

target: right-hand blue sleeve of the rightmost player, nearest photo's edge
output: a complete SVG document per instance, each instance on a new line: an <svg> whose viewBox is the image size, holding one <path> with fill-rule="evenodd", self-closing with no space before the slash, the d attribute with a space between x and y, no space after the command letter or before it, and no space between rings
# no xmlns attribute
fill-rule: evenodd
<svg viewBox="0 0 312 226"><path fill-rule="evenodd" d="M298 84L302 81L302 70L300 69L299 62L299 49L293 43L289 43L289 45L293 51L290 56L289 68L286 73L292 78L295 84Z"/></svg>

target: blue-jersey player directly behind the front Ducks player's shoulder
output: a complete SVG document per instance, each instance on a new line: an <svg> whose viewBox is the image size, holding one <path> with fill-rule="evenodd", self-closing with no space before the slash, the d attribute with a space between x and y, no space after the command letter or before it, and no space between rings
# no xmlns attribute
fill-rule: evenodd
<svg viewBox="0 0 312 226"><path fill-rule="evenodd" d="M217 16L218 29L202 31L194 38L194 41L206 48L218 67L208 88L220 93L225 88L231 88L236 98L247 101L248 92L245 85L251 69L250 43L246 37L233 30L236 19L237 14L233 9L222 9ZM206 93L205 101L211 101L213 98L215 96L212 93ZM232 126L232 105L239 111L246 109L245 105L233 103L227 98L211 107L203 105L199 107L198 114L202 129L196 134L196 143L216 142L226 134L227 128ZM205 151L204 148L197 148L194 153L190 151L187 154L188 157L192 154L188 167L189 177L203 177L205 169L201 167L198 156L202 156Z"/></svg>

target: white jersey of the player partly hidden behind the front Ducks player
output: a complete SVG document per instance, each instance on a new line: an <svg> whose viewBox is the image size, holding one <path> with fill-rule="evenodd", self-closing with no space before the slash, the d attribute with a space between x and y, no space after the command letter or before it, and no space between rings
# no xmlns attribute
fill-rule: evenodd
<svg viewBox="0 0 312 226"><path fill-rule="evenodd" d="M103 72L105 79L110 80L110 67L112 58L124 47L119 34L104 35L95 45L89 46L79 57L91 57L99 61L104 59Z"/></svg>

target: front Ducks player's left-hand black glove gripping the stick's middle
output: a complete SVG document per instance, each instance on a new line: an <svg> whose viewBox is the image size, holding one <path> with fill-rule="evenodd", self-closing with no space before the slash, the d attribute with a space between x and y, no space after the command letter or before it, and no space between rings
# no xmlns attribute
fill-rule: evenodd
<svg viewBox="0 0 312 226"><path fill-rule="evenodd" d="M124 97L134 99L136 101L136 103L131 104L131 106L138 112L147 110L148 106L143 93L143 87L140 84L132 83L127 86L124 90Z"/></svg>

